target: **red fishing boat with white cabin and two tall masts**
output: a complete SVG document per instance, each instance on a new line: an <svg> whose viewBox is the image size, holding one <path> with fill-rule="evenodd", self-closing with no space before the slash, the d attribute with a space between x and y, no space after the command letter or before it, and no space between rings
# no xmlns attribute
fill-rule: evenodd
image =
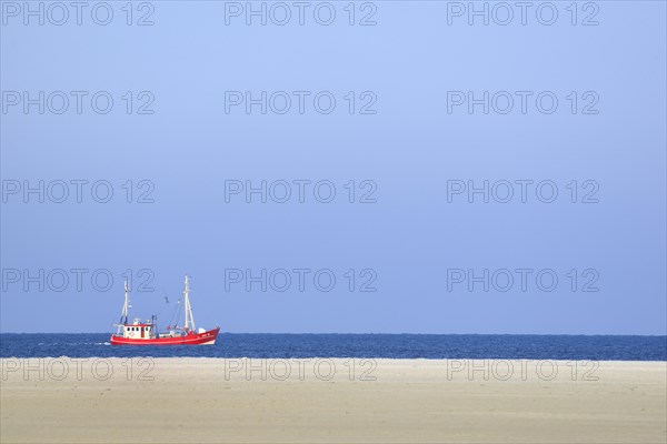
<svg viewBox="0 0 667 444"><path fill-rule="evenodd" d="M128 322L130 309L128 283L125 285L126 299L120 314L120 322L115 324L118 332L111 335L112 345L212 345L216 343L220 327L205 330L195 327L192 306L190 305L190 279L186 275L186 289L183 290L183 309L186 312L186 324L167 326L167 332L158 333L156 316L142 321L136 317L132 323ZM179 301L180 303L180 301Z"/></svg>

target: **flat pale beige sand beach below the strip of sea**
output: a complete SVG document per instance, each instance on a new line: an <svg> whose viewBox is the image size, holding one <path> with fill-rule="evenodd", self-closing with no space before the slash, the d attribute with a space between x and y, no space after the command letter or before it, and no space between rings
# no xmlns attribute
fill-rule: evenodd
<svg viewBox="0 0 667 444"><path fill-rule="evenodd" d="M667 441L667 362L0 363L2 443Z"/></svg>

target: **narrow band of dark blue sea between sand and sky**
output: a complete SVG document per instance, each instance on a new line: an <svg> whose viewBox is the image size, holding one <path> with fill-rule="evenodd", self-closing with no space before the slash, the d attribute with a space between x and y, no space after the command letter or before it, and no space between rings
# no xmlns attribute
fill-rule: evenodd
<svg viewBox="0 0 667 444"><path fill-rule="evenodd" d="M667 336L221 333L216 345L112 346L109 333L0 334L0 357L47 356L667 361Z"/></svg>

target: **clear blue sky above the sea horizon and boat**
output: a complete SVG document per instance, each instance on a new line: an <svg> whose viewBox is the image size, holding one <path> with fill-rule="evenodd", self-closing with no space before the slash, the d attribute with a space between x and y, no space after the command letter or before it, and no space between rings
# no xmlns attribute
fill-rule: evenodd
<svg viewBox="0 0 667 444"><path fill-rule="evenodd" d="M169 317L189 273L198 324L230 332L667 333L664 2L556 2L550 26L405 1L26 26L4 3L2 332L110 331L131 270L137 315Z"/></svg>

